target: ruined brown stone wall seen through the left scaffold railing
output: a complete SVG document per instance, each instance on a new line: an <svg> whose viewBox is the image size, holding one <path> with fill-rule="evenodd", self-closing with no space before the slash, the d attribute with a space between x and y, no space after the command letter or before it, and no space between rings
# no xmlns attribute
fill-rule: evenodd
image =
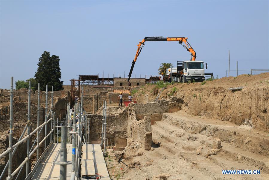
<svg viewBox="0 0 269 180"><path fill-rule="evenodd" d="M51 93L48 94L48 108L51 105ZM70 102L70 94L68 91L55 91L53 98L53 110L55 112L55 120L58 118L64 118L66 113L66 104ZM10 92L8 90L0 91L0 153L4 152L8 147L9 136L9 113L10 113ZM15 90L13 93L13 144L15 144L26 123L27 123L27 114L28 113L28 93L27 89L25 90ZM31 93L31 106L30 106L30 132L32 132L37 127L37 91L36 93ZM39 125L45 121L45 92L40 93L40 119ZM47 125L48 132L50 131L50 123ZM39 140L42 140L45 134L45 129L43 128L40 133ZM36 139L36 134L30 138L30 148L32 143ZM43 145L44 146L44 145ZM41 146L39 149L39 155L42 154L44 147ZM12 170L14 171L16 167L25 159L26 157L26 141L19 145L19 149L15 153L15 159L12 163ZM8 155L1 158L0 160L0 172L2 172L4 165L6 164ZM14 159L14 158L13 158ZM31 168L32 162L34 163L36 159L36 152L33 154L29 167ZM24 167L25 168L25 167ZM24 170L25 171L25 170ZM7 174L7 171L6 171ZM6 175L5 174L5 175ZM5 179L5 177L4 177ZM21 173L19 179L25 179L25 173Z"/></svg>

